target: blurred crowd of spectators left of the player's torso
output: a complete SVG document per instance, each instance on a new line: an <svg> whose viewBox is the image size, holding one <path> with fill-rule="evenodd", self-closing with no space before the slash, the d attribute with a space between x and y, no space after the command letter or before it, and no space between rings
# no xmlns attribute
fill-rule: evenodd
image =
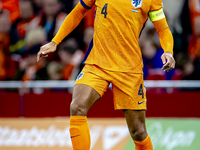
<svg viewBox="0 0 200 150"><path fill-rule="evenodd" d="M79 73L93 36L95 8L59 45L36 62L77 0L2 0L0 4L0 80L69 80Z"/></svg>

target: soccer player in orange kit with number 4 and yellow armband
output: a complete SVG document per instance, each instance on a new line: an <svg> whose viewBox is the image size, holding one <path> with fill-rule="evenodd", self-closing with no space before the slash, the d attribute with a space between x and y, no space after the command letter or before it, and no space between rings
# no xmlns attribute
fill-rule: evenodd
<svg viewBox="0 0 200 150"><path fill-rule="evenodd" d="M54 52L93 5L96 5L95 32L70 106L73 149L90 149L87 112L112 83L115 109L124 112L136 150L153 150L145 127L146 93L139 36L150 17L164 50L162 70L174 68L173 37L163 13L162 0L80 0L52 42L41 47L37 59Z"/></svg>

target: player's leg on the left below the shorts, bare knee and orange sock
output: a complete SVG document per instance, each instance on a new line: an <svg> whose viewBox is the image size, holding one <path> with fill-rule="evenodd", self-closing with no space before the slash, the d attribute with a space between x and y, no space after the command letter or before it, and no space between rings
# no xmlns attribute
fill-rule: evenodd
<svg viewBox="0 0 200 150"><path fill-rule="evenodd" d="M90 86L75 85L70 106L70 135L74 150L90 149L90 131L86 116L89 108L99 99L100 95Z"/></svg>

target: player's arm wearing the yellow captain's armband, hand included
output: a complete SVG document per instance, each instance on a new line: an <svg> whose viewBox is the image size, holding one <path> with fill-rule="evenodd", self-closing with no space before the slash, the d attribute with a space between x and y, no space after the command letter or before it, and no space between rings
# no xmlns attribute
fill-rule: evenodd
<svg viewBox="0 0 200 150"><path fill-rule="evenodd" d="M167 24L163 9L149 12L150 20L153 22L160 39L161 47L164 50L161 59L163 61L162 70L170 71L175 68L175 60L173 58L173 36Z"/></svg>

